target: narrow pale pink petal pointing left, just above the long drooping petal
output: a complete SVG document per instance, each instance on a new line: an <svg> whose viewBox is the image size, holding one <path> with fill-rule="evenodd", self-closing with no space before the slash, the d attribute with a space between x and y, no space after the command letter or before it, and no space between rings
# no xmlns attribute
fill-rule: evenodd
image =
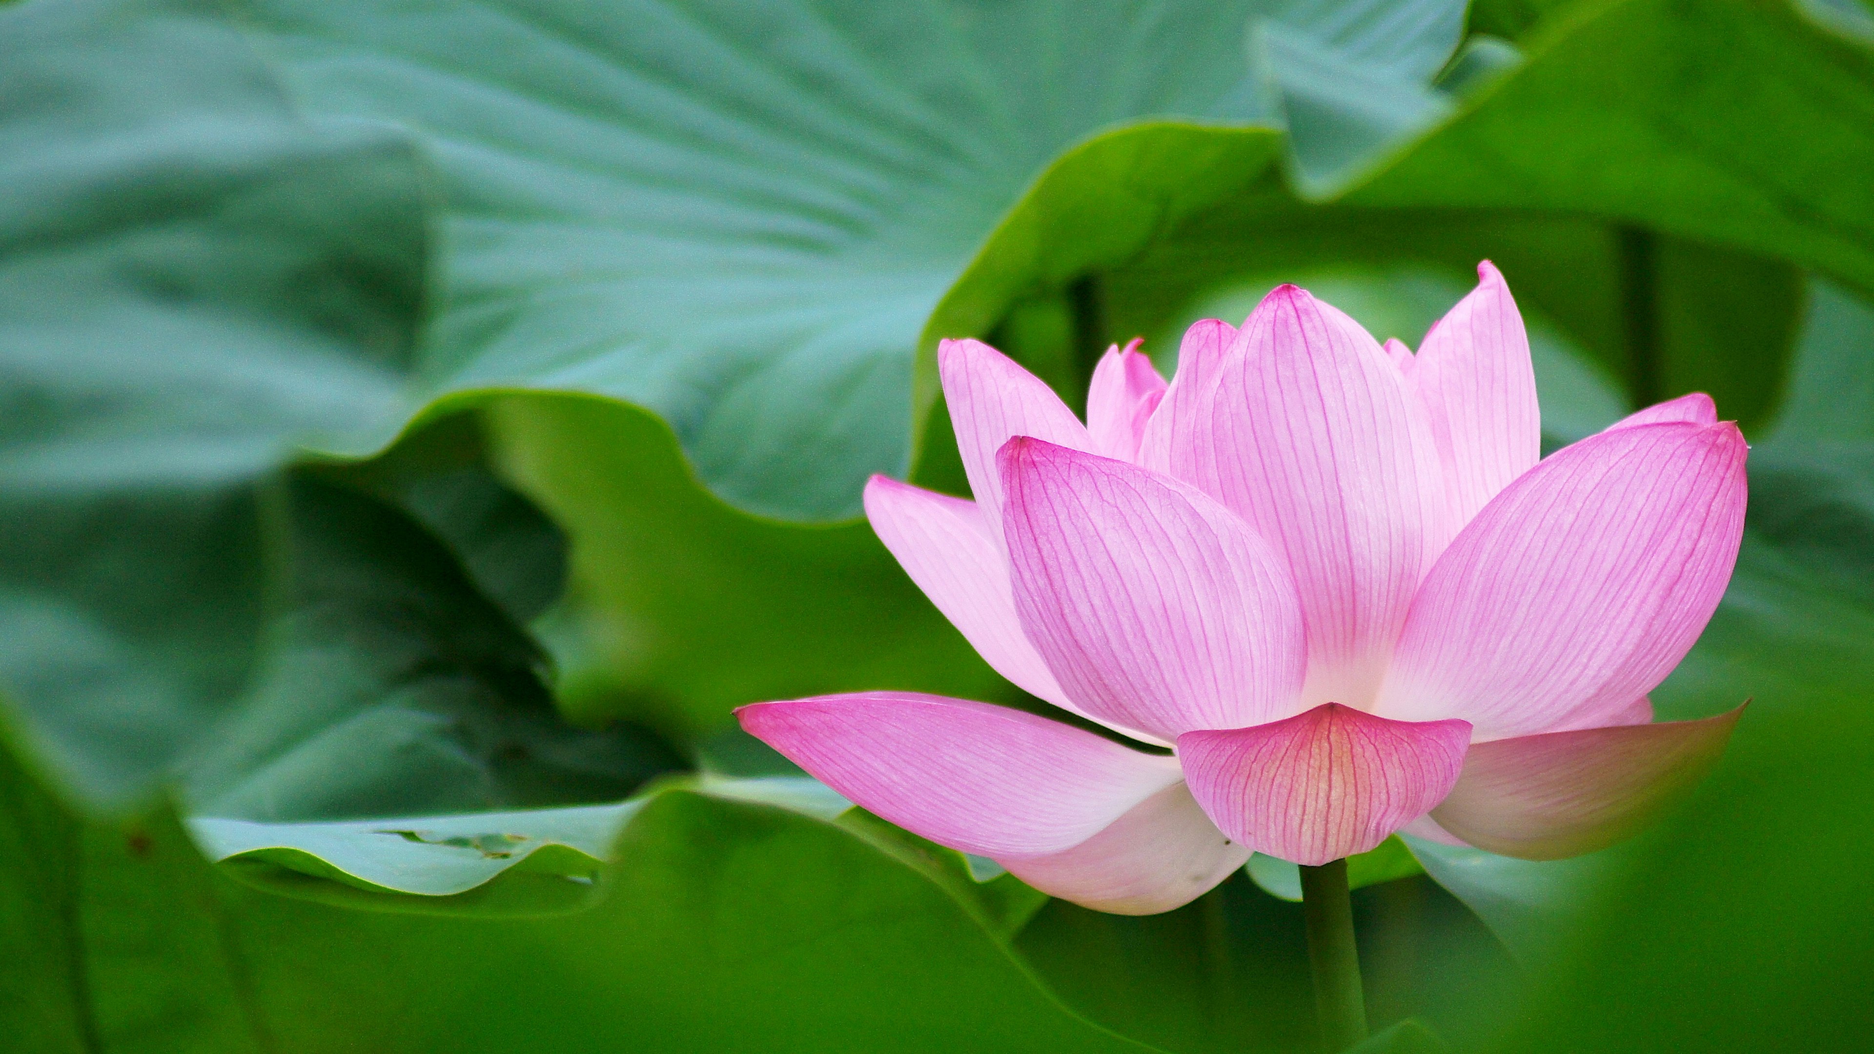
<svg viewBox="0 0 1874 1054"><path fill-rule="evenodd" d="M886 476L866 484L866 518L885 548L997 673L1057 707L1074 709L1021 634L1008 565L976 503ZM993 533L991 533L993 531Z"/></svg>

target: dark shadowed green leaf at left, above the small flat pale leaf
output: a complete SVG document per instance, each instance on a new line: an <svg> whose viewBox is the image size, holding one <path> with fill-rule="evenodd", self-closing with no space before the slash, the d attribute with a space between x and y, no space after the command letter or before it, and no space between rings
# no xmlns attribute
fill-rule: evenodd
<svg viewBox="0 0 1874 1054"><path fill-rule="evenodd" d="M290 476L292 591L255 694L187 763L197 810L255 821L615 801L680 769L656 737L562 722L540 647L399 510Z"/></svg>

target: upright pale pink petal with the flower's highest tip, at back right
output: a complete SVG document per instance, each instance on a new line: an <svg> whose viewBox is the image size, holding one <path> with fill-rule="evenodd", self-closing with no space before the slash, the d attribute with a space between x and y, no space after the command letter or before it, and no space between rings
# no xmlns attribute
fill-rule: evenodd
<svg viewBox="0 0 1874 1054"><path fill-rule="evenodd" d="M1529 336L1497 268L1424 336L1411 386L1424 401L1458 523L1542 456Z"/></svg>

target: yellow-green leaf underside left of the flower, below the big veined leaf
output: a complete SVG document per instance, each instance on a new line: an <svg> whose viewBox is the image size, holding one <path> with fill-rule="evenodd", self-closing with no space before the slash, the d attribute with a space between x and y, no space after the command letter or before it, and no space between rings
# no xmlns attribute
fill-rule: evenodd
<svg viewBox="0 0 1874 1054"><path fill-rule="evenodd" d="M669 428L611 399L510 396L504 469L577 540L592 623L562 662L573 720L699 737L751 700L1012 688L903 576L866 523L750 518L699 488ZM577 456L568 458L568 450Z"/></svg>

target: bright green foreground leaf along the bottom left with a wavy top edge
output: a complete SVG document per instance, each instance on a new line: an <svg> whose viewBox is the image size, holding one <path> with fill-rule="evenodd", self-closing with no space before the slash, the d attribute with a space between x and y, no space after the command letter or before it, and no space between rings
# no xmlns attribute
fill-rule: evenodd
<svg viewBox="0 0 1874 1054"><path fill-rule="evenodd" d="M172 820L79 825L6 760L0 786L71 857L32 883L66 908L0 930L32 1050L1147 1050L1064 1011L922 868L783 808L665 793L588 910L495 919L262 893ZM0 863L7 921L34 868Z"/></svg>

